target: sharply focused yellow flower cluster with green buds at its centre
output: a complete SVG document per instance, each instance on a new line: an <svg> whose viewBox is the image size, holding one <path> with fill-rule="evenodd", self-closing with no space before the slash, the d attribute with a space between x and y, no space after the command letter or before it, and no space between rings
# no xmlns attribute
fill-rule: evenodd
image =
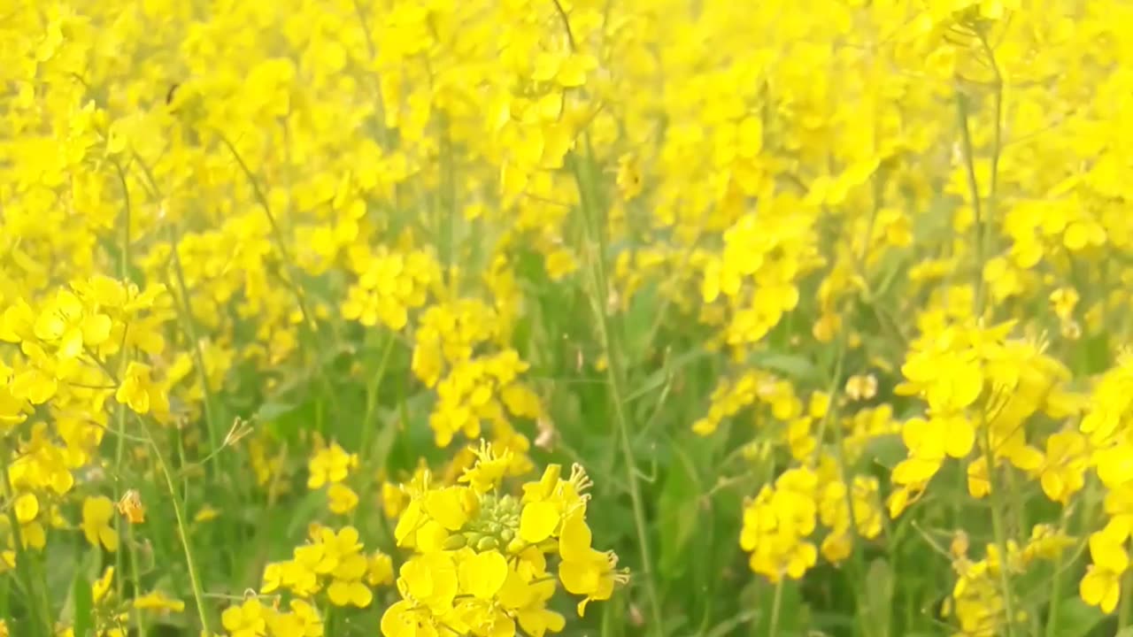
<svg viewBox="0 0 1133 637"><path fill-rule="evenodd" d="M414 485L394 530L414 555L399 570L401 600L382 617L383 635L559 632L564 618L546 605L556 589L548 557L563 588L583 597L579 615L625 581L616 555L591 546L586 473L574 467L563 479L552 465L516 495L502 490L510 455L483 444L458 484L433 484L426 473Z"/></svg>

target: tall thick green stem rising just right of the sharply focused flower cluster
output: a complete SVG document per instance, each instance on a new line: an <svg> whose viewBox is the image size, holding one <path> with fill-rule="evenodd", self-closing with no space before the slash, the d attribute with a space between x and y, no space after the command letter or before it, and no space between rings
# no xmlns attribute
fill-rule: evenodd
<svg viewBox="0 0 1133 637"><path fill-rule="evenodd" d="M589 150L589 144L587 144ZM593 155L588 155L588 160ZM653 580L653 561L649 555L649 541L645 515L645 503L641 498L641 487L638 484L637 460L633 456L633 444L630 435L629 417L625 414L624 372L619 353L614 348L614 320L606 308L606 299L610 297L610 286L606 275L606 239L604 230L598 226L597 201L591 189L593 179L585 175L579 158L571 158L571 167L574 171L574 179L578 185L579 199L581 202L583 226L586 227L587 241L597 246L597 254L589 260L591 263L591 277L594 283L594 311L597 314L598 336L602 340L602 348L606 356L606 375L613 393L614 424L617 428L617 439L621 453L625 464L625 481L629 489L630 501L633 509L633 526L637 530L638 549L641 553L642 576L645 579L646 597L649 604L651 618L651 629L656 635L663 635L663 619L661 612L661 601L657 595L657 587Z"/></svg>

